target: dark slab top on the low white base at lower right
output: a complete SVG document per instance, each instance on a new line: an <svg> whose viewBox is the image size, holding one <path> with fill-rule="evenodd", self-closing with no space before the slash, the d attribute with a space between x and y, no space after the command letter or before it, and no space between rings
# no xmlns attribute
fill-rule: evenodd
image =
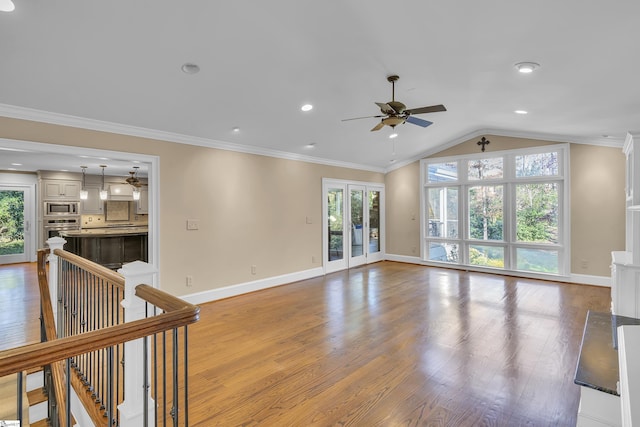
<svg viewBox="0 0 640 427"><path fill-rule="evenodd" d="M616 328L620 325L638 324L640 319L589 311L573 382L619 396Z"/></svg>

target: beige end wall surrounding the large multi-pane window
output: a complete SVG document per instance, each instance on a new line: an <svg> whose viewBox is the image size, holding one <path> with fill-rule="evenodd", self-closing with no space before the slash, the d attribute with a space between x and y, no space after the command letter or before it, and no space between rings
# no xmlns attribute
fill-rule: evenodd
<svg viewBox="0 0 640 427"><path fill-rule="evenodd" d="M430 157L478 153L476 142L465 141ZM557 144L524 138L487 135L487 151ZM571 273L608 277L611 251L624 250L624 155L620 148L570 144ZM387 253L415 256L420 221L419 162L387 174ZM418 237L416 237L418 236Z"/></svg>

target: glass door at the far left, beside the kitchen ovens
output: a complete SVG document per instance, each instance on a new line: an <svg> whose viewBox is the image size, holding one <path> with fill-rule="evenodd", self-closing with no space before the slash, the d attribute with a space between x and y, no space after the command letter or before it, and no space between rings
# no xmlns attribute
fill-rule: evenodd
<svg viewBox="0 0 640 427"><path fill-rule="evenodd" d="M29 187L0 186L0 264L29 261L28 191Z"/></svg>

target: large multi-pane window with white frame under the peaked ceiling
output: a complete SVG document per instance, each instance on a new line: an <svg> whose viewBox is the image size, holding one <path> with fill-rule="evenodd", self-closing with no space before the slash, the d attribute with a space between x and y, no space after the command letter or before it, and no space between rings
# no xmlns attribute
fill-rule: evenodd
<svg viewBox="0 0 640 427"><path fill-rule="evenodd" d="M423 259L564 275L568 145L422 161Z"/></svg>

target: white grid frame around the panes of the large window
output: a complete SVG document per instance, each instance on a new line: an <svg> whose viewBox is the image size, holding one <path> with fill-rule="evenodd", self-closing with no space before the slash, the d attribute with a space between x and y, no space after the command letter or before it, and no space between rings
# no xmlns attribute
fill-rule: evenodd
<svg viewBox="0 0 640 427"><path fill-rule="evenodd" d="M516 158L522 155L557 153L557 175L516 176ZM469 163L478 159L503 158L503 173L501 178L470 179L468 174ZM456 180L428 182L429 165L455 163L457 169ZM516 273L521 276L568 277L570 259L570 172L569 172L569 144L550 144L537 147L529 147L514 150L502 150L489 153L470 153L459 156L430 157L420 161L420 258L424 264L458 267L465 269L487 270L492 272ZM515 212L516 188L519 184L556 183L558 188L558 242L522 242L517 240L517 218ZM469 189L482 185L502 185L502 240L472 239L470 237L469 215ZM428 192L433 188L458 189L458 237L449 238L429 236ZM429 247L431 244L457 245L458 254L455 261L435 261L429 259ZM471 264L469 260L469 247L471 245L502 247L504 251L504 268L487 267ZM529 269L518 269L518 250L551 250L558 254L558 271L537 272Z"/></svg>

